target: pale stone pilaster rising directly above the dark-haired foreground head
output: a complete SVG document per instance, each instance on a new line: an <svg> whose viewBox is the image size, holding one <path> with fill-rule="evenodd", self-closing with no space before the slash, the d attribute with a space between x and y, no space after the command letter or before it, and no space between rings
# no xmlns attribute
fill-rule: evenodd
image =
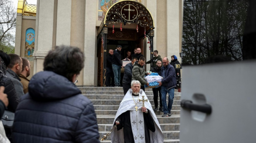
<svg viewBox="0 0 256 143"><path fill-rule="evenodd" d="M56 45L70 45L71 0L58 1Z"/></svg>

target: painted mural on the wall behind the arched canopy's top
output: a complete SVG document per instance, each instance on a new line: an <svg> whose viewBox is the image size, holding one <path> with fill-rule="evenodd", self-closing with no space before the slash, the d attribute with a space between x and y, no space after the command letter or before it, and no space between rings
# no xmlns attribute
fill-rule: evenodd
<svg viewBox="0 0 256 143"><path fill-rule="evenodd" d="M104 16L106 15L108 9L115 4L116 2L119 2L122 0L99 0L99 7L98 7L98 20L102 21L104 19ZM134 0L137 2L140 2L142 0Z"/></svg>

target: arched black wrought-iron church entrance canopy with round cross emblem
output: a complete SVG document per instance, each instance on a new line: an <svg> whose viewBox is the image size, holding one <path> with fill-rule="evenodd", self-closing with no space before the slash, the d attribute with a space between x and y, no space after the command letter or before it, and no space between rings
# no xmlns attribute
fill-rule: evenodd
<svg viewBox="0 0 256 143"><path fill-rule="evenodd" d="M148 9L136 1L120 1L112 5L98 28L97 57L98 57L98 86L106 86L106 56L112 45L118 41L129 41L133 51L135 45L143 52L143 40L150 42L150 60L153 58L154 20ZM133 42L131 42L133 41ZM120 45L120 44L116 44ZM108 47L109 46L109 47ZM113 49L115 50L116 47ZM125 53L124 53L125 54ZM150 64L152 68L152 64Z"/></svg>

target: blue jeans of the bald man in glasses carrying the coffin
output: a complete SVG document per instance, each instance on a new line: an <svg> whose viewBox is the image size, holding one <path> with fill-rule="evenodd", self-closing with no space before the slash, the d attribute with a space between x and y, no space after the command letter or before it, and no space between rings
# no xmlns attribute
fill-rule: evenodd
<svg viewBox="0 0 256 143"><path fill-rule="evenodd" d="M174 98L174 88L172 87L171 89L167 89L166 86L161 86L161 94L162 94L162 104L163 104L163 108L164 108L164 113L171 113L171 109L172 109L172 103L173 103L173 98ZM168 96L168 107L166 105L166 94L169 94Z"/></svg>

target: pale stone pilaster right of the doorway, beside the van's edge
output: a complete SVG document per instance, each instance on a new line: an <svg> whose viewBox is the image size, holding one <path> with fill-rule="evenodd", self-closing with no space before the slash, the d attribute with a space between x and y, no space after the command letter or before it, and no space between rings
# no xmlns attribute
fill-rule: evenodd
<svg viewBox="0 0 256 143"><path fill-rule="evenodd" d="M167 0L167 57L171 61L171 56L176 55L180 61L179 49L180 38L180 0Z"/></svg>

